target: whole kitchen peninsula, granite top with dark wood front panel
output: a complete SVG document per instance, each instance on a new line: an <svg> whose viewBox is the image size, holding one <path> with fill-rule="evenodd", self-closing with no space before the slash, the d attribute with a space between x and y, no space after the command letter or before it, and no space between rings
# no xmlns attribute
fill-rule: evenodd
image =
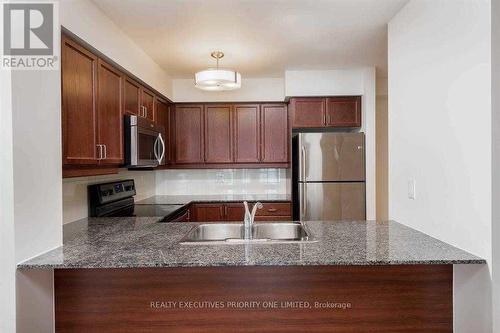
<svg viewBox="0 0 500 333"><path fill-rule="evenodd" d="M392 221L305 222L315 242L182 245L199 223L159 219L71 223L63 247L18 265L54 269L57 332L448 332L453 265L485 263Z"/></svg>

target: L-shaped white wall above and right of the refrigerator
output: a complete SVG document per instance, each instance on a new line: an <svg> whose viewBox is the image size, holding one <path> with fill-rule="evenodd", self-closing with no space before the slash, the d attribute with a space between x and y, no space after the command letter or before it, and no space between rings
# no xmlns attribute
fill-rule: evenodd
<svg viewBox="0 0 500 333"><path fill-rule="evenodd" d="M376 218L376 79L375 68L285 72L285 95L362 95L362 127L366 136L366 217Z"/></svg>

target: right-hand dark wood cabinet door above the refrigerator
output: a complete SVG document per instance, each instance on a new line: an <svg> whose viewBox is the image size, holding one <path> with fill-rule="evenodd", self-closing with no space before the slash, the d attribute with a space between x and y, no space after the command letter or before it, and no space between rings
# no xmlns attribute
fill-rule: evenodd
<svg viewBox="0 0 500 333"><path fill-rule="evenodd" d="M361 96L328 98L326 125L330 127L361 127Z"/></svg>

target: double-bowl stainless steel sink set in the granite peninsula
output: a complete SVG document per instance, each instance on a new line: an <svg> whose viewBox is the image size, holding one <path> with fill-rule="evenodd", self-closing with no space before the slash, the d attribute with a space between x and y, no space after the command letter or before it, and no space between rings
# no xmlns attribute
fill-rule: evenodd
<svg viewBox="0 0 500 333"><path fill-rule="evenodd" d="M254 223L252 237L249 239L245 239L244 229L241 223L201 224L191 229L181 240L181 244L314 241L307 227L301 223Z"/></svg>

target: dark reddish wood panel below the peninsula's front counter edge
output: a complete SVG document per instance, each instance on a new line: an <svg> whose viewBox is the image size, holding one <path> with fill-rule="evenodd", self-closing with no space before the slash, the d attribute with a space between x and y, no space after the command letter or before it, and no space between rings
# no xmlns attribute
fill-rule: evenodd
<svg viewBox="0 0 500 333"><path fill-rule="evenodd" d="M56 269L55 331L453 332L453 266Z"/></svg>

